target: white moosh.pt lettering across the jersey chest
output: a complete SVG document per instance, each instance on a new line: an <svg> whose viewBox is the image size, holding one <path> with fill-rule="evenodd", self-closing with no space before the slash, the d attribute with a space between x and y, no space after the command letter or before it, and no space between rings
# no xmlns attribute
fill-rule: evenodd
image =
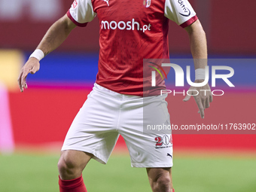
<svg viewBox="0 0 256 192"><path fill-rule="evenodd" d="M148 25L141 25L139 22L136 22L135 19L124 22L123 20L120 21L115 21L112 20L111 22L108 22L107 20L102 20L102 29L107 29L107 30L137 30L137 31L151 31L151 23L148 23Z"/></svg>

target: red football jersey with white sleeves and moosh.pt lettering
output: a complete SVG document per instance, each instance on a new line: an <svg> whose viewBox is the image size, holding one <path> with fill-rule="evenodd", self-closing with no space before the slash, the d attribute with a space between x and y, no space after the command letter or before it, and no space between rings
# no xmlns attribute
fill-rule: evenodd
<svg viewBox="0 0 256 192"><path fill-rule="evenodd" d="M169 58L169 20L181 27L197 20L187 0L75 0L67 15L77 26L99 18L96 83L136 96L143 96L143 59Z"/></svg>

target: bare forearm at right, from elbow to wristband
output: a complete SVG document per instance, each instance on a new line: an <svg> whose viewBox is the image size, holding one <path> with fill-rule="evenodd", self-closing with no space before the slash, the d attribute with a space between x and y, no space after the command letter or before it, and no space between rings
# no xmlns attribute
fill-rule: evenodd
<svg viewBox="0 0 256 192"><path fill-rule="evenodd" d="M207 66L206 33L199 20L187 27L190 38L190 50L194 58L195 69L204 69Z"/></svg>

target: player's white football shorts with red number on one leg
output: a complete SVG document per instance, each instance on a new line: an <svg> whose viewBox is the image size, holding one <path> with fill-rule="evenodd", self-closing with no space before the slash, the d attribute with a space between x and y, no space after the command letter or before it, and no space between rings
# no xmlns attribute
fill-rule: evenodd
<svg viewBox="0 0 256 192"><path fill-rule="evenodd" d="M84 151L93 154L100 163L107 163L121 135L130 153L131 166L172 167L172 135L143 131L145 124L154 123L154 118L143 117L143 110L151 111L148 107L154 108L160 123L169 123L165 98L123 95L94 84L69 128L62 151Z"/></svg>

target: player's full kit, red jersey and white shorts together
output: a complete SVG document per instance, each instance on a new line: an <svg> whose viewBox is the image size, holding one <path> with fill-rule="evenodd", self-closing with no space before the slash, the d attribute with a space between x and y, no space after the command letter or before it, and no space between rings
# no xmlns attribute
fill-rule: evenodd
<svg viewBox="0 0 256 192"><path fill-rule="evenodd" d="M143 59L169 58L168 23L181 27L197 20L187 0L75 0L67 12L77 26L99 18L99 72L96 84L72 123L62 150L94 154L106 163L119 134L132 166L171 167L172 136L143 133L148 101L169 123L164 96L143 96ZM90 26L89 26L90 27ZM172 32L170 32L171 35ZM86 42L85 42L86 43ZM161 140L162 139L162 140ZM161 142L162 141L162 142Z"/></svg>

